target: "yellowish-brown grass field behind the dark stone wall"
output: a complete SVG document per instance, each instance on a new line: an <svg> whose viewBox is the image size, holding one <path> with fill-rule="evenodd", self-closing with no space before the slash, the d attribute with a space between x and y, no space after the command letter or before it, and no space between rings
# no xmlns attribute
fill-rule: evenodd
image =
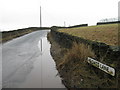
<svg viewBox="0 0 120 90"><path fill-rule="evenodd" d="M118 24L65 28L60 29L59 32L68 33L92 41L103 42L112 46L118 45Z"/></svg>

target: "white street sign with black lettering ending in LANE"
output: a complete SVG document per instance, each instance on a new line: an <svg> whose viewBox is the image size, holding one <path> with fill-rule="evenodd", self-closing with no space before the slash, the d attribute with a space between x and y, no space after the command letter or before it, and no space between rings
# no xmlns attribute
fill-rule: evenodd
<svg viewBox="0 0 120 90"><path fill-rule="evenodd" d="M94 59L92 59L90 57L88 57L87 62L89 64L92 64L93 66L101 69L102 71L104 71L104 72L106 72L106 73L108 73L108 74L110 74L112 76L115 76L115 69L114 68L112 68L110 66L107 66L105 64L102 64L101 62L99 62L97 60L94 60Z"/></svg>

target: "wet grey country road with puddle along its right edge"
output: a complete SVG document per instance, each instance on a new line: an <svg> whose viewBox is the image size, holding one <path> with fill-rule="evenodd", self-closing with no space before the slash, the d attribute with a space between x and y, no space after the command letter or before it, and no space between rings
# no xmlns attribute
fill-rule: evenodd
<svg viewBox="0 0 120 90"><path fill-rule="evenodd" d="M48 32L35 31L2 45L3 88L65 88L50 55Z"/></svg>

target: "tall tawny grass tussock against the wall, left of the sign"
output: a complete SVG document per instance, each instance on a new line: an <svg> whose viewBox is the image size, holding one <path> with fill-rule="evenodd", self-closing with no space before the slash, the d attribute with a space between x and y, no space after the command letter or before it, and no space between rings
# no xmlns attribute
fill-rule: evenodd
<svg viewBox="0 0 120 90"><path fill-rule="evenodd" d="M60 68L68 63L83 63L87 60L87 57L95 57L92 49L85 44L77 44L74 42L73 47L67 51L58 67Z"/></svg>

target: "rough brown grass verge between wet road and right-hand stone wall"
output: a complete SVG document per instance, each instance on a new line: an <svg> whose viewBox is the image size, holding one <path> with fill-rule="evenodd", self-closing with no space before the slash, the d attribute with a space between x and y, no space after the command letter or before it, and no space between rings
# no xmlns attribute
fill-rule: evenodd
<svg viewBox="0 0 120 90"><path fill-rule="evenodd" d="M51 55L58 72L67 88L115 88L116 79L89 65L86 58L95 57L91 48L84 44L73 43L71 49L64 48L49 33Z"/></svg>

